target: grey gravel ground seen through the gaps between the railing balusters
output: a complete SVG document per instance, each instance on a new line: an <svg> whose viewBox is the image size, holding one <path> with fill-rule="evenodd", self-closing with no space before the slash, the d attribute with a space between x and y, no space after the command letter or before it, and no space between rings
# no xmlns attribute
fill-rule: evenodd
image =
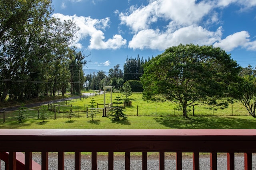
<svg viewBox="0 0 256 170"><path fill-rule="evenodd" d="M41 164L41 159L39 154L33 154L33 160ZM252 160L256 160L256 155L253 155ZM227 169L227 157L225 155L220 155L217 158L218 170ZM158 170L159 162L157 157L148 158L148 170ZM1 170L4 170L4 162L1 162ZM125 167L124 158L118 156L114 157L114 169L124 170ZM74 169L74 156L65 155L64 162L65 170ZM252 169L256 169L256 161L253 161ZM142 169L142 159L138 157L131 157L130 161L131 170ZM49 170L58 169L58 156L56 154L49 155ZM89 156L81 156L81 170L91 169L91 158ZM106 156L98 156L98 170L107 170L108 160ZM165 169L166 170L176 170L176 160L174 156L165 158ZM191 170L193 169L193 160L190 157L182 158L182 169ZM200 156L200 169L209 170L210 169L210 158L209 156ZM235 169L244 169L244 156L242 154L235 156Z"/></svg>

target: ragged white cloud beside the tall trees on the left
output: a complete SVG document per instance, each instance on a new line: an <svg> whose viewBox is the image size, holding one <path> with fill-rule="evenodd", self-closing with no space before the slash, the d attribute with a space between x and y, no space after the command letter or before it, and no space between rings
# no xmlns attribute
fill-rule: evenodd
<svg viewBox="0 0 256 170"><path fill-rule="evenodd" d="M110 18L104 18L101 20L92 19L90 17L83 16L65 16L63 14L53 14L52 17L60 18L61 21L72 20L80 30L76 35L75 42L72 46L76 46L81 49L83 46L80 43L82 39L90 37L89 49L119 49L120 47L126 45L126 40L122 38L121 35L114 35L112 38L105 40L104 32L109 27Z"/></svg>

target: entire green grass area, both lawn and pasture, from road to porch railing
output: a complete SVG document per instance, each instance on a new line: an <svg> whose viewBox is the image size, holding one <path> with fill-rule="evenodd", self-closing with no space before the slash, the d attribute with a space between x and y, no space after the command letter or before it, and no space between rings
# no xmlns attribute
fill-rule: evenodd
<svg viewBox="0 0 256 170"><path fill-rule="evenodd" d="M112 94L112 102L118 93ZM96 104L103 104L104 95L93 97ZM252 118L245 107L240 102L235 102L227 109L210 109L209 106L195 106L194 116L192 111L188 113L189 118L182 117L182 111L176 110L177 105L167 102L147 102L142 100L142 94L133 93L130 97L132 106L126 107L124 113L128 116L127 120L113 122L108 117L102 117L102 109L99 110L97 117L92 121L86 117L86 107L92 97L82 100L74 99L64 102L54 103L37 107L39 117L42 112L47 113L47 120L38 119L38 110L26 110L22 123L17 123L18 111L6 112L5 123L3 114L0 113L0 128L24 128L24 129L254 129L256 119ZM106 104L110 103L110 93L106 94ZM56 119L54 111L47 108L56 105ZM60 105L60 109L58 107ZM72 105L72 107L70 107ZM99 105L103 108L103 105ZM34 108L35 109L35 108ZM72 109L74 113L70 121L67 114ZM191 109L191 108L189 108ZM60 111L60 112L59 112ZM138 114L138 116L137 116ZM233 116L232 116L233 115Z"/></svg>

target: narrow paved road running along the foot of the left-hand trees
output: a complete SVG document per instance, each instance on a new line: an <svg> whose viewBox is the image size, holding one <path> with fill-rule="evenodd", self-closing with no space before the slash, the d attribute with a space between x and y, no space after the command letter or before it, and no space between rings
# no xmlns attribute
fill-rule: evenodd
<svg viewBox="0 0 256 170"><path fill-rule="evenodd" d="M103 91L100 91L100 94L102 94ZM93 96L93 93L83 93L83 96ZM82 96L81 96L82 98ZM38 103L32 103L32 104L26 104L24 107L27 108L32 108L32 107L38 107L38 106L42 106L44 104L49 104L49 103L56 103L56 102L62 102L62 101L66 101L66 100L72 100L72 99L79 99L79 96L73 96L70 98L63 98L63 99L56 99L56 100L50 100L50 101L45 101L45 102L38 102ZM0 111L14 111L14 110L18 110L21 106L12 106L12 107L6 107L6 108L0 108Z"/></svg>

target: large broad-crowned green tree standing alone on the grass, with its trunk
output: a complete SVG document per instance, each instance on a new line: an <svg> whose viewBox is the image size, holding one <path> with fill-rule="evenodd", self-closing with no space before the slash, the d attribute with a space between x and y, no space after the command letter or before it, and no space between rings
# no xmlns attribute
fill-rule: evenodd
<svg viewBox="0 0 256 170"><path fill-rule="evenodd" d="M227 97L228 85L239 71L236 61L220 48L181 44L144 64L143 97L179 103L187 117L187 106Z"/></svg>

